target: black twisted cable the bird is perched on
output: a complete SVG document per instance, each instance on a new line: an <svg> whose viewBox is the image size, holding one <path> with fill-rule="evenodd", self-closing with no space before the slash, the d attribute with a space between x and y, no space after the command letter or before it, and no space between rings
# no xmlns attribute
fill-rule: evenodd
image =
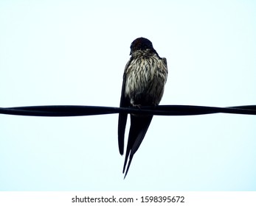
<svg viewBox="0 0 256 206"><path fill-rule="evenodd" d="M192 105L159 105L156 107L97 107L49 105L30 107L0 107L0 113L15 116L94 116L113 113L133 113L155 116L193 116L212 113L256 115L256 105L235 107L205 107Z"/></svg>

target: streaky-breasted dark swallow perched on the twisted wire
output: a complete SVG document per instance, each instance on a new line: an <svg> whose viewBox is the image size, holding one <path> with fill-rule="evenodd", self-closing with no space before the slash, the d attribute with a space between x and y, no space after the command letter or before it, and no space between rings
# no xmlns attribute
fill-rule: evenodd
<svg viewBox="0 0 256 206"><path fill-rule="evenodd" d="M125 65L122 77L120 107L154 107L159 104L164 93L168 73L167 60L165 57L159 57L159 54L153 49L153 44L147 38L136 38L131 43L130 48L131 57ZM119 114L118 146L121 155L124 154L127 118L127 113ZM130 168L131 160L137 149L139 149L152 118L152 115L130 114L131 125L125 163L122 170L125 177Z"/></svg>

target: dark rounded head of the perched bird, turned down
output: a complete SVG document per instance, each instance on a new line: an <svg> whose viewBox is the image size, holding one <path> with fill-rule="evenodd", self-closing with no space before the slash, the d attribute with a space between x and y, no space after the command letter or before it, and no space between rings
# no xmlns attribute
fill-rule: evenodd
<svg viewBox="0 0 256 206"><path fill-rule="evenodd" d="M131 43L131 54L134 53L134 51L145 51L145 50L151 50L153 52L156 52L155 49L153 49L153 44L151 43L150 40L146 39L146 38L136 38L136 40L134 40Z"/></svg>

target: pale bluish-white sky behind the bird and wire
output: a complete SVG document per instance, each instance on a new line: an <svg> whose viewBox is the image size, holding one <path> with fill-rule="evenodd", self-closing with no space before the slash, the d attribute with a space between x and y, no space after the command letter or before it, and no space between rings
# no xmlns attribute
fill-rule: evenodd
<svg viewBox="0 0 256 206"><path fill-rule="evenodd" d="M255 14L255 1L1 1L0 107L118 107L139 37L167 58L161 104L256 104ZM255 116L155 116L125 180L117 118L0 115L0 190L256 190Z"/></svg>

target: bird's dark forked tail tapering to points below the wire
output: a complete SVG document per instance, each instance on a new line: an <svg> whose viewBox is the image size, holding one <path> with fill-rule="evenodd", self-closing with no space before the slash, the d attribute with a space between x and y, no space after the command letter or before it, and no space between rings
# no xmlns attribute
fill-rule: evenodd
<svg viewBox="0 0 256 206"><path fill-rule="evenodd" d="M134 157L135 152L139 149L140 144L145 137L149 125L151 124L153 116L134 116L131 115L131 127L128 137L128 144L125 154L125 164L123 166L122 173L125 172L125 176L128 173L129 167L131 165L131 160ZM130 154L130 157L129 157ZM126 163L129 157L128 166L125 171Z"/></svg>

